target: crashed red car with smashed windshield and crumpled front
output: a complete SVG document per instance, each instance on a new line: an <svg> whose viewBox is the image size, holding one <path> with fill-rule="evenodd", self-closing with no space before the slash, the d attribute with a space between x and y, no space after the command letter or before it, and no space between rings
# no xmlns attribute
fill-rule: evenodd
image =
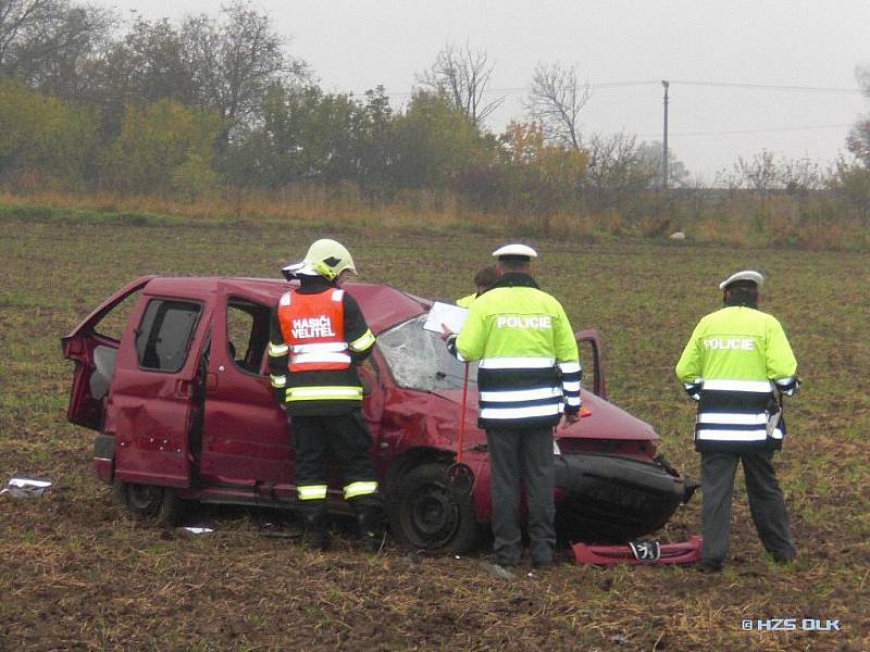
<svg viewBox="0 0 870 652"><path fill-rule="evenodd" d="M196 502L296 505L289 428L265 355L270 311L286 289L282 280L144 277L62 339L75 362L67 417L98 432L97 475L132 512L177 522ZM463 367L422 328L431 302L384 285L345 289L377 336L360 376L390 530L418 549L470 550L492 514L476 369L462 454L474 485L459 491L446 469ZM120 340L105 335L119 321ZM592 350L593 391L584 390L585 417L555 432L557 526L569 541L626 541L661 527L692 489L656 459L655 430L605 400L597 334L577 337ZM336 482L336 510L340 494Z"/></svg>

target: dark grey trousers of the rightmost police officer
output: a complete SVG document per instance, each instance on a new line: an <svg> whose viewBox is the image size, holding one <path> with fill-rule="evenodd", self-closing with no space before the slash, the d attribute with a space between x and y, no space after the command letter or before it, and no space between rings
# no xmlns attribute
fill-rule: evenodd
<svg viewBox="0 0 870 652"><path fill-rule="evenodd" d="M743 463L749 511L765 549L775 559L795 555L788 535L788 515L771 460L773 451L745 453L711 453L700 456L700 487L704 493L701 524L704 547L701 557L723 563L728 554L731 531L731 498L737 462Z"/></svg>

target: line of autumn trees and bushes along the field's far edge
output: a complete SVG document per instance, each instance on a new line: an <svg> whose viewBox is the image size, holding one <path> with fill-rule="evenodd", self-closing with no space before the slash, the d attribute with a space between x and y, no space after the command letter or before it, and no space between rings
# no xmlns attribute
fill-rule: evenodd
<svg viewBox="0 0 870 652"><path fill-rule="evenodd" d="M584 134L574 67L539 64L500 133L484 51L447 46L401 110L383 87L325 92L248 0L179 24L71 0L0 0L0 183L195 199L226 189L349 185L373 200L446 191L483 212L642 217L662 210L661 147ZM870 91L870 73L859 72ZM761 152L723 171L733 193L835 195L870 214L870 120L822 171ZM669 156L670 196L717 196ZM695 202L693 204L693 202ZM709 203L709 202L708 202ZM669 204L670 210L673 205Z"/></svg>

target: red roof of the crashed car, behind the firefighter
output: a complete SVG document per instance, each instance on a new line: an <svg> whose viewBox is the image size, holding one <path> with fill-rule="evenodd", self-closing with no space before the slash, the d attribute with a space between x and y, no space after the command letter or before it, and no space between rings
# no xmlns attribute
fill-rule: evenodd
<svg viewBox="0 0 870 652"><path fill-rule="evenodd" d="M145 287L146 294L162 297L183 297L206 300L219 287L228 287L241 297L260 301L266 305L277 303L281 296L298 284L275 278L231 278L231 277L164 277L151 279ZM347 283L346 290L362 310L369 328L373 333L410 319L425 312L431 302L420 297L402 292L387 285L376 283Z"/></svg>

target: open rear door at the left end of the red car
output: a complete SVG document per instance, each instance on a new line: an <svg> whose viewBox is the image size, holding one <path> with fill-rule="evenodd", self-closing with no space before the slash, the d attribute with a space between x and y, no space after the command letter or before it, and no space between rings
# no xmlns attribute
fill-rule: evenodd
<svg viewBox="0 0 870 652"><path fill-rule="evenodd" d="M115 356L127 327L126 312L113 319L114 312L152 279L139 278L103 301L67 336L61 338L63 356L75 362L66 418L76 425L102 429L105 397L114 374ZM109 322L114 321L114 324Z"/></svg>

